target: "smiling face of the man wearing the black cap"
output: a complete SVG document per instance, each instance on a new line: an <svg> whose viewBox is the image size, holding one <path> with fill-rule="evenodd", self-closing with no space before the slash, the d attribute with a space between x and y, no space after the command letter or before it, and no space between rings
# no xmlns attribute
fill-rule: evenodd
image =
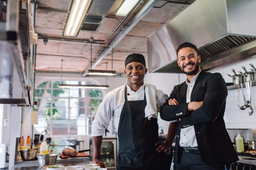
<svg viewBox="0 0 256 170"><path fill-rule="evenodd" d="M127 76L128 85L143 85L148 69L142 63L132 62L126 65L124 74Z"/></svg>

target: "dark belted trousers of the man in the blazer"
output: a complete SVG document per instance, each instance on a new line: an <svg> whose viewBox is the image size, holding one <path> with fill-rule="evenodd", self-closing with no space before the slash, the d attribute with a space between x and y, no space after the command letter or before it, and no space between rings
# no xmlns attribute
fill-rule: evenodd
<svg viewBox="0 0 256 170"><path fill-rule="evenodd" d="M186 152L179 148L180 163L177 164L178 170L224 170L225 164L205 164L201 158L199 150Z"/></svg>

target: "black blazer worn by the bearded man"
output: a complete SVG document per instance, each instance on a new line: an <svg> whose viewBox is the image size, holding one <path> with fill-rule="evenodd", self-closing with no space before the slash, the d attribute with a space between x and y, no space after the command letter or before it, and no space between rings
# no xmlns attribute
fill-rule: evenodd
<svg viewBox="0 0 256 170"><path fill-rule="evenodd" d="M228 90L221 74L206 73L204 70L199 73L190 101L203 101L203 105L186 114L188 107L188 103L186 103L187 87L186 82L174 86L169 99L175 98L179 105L169 105L168 99L160 111L160 116L165 121L181 118L176 136L174 162L180 162L178 157L180 129L192 125L194 125L197 144L204 163L216 164L237 161L236 151L223 120ZM217 116L217 120L212 122Z"/></svg>

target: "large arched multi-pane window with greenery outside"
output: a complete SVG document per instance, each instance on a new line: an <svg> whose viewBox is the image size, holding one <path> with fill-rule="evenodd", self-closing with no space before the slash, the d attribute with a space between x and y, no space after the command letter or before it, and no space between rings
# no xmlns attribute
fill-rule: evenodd
<svg viewBox="0 0 256 170"><path fill-rule="evenodd" d="M92 121L100 102L103 90L59 88L60 81L44 81L35 88L34 110L38 112L35 130L45 129L50 136L79 136L91 134ZM62 84L92 85L88 81L62 81Z"/></svg>

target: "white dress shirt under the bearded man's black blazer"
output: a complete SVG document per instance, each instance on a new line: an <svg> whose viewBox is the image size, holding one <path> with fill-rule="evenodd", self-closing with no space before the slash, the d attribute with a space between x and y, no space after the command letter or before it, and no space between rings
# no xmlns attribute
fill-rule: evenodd
<svg viewBox="0 0 256 170"><path fill-rule="evenodd" d="M191 78L190 83L188 82L188 79L186 79L186 84L188 85L187 103L190 102L191 92L195 85L196 78L198 77L201 71L202 70L200 70L193 78ZM196 133L195 133L194 126L188 126L187 128L180 129L180 146L181 147L185 147L185 146L197 147L198 146L196 141Z"/></svg>

